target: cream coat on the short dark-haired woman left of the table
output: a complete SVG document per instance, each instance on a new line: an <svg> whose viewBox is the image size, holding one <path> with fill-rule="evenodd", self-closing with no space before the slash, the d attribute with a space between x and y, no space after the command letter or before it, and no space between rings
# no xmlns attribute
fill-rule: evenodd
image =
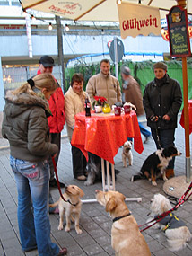
<svg viewBox="0 0 192 256"><path fill-rule="evenodd" d="M83 91L84 100L89 95ZM74 130L74 116L84 111L84 105L81 101L79 94L74 93L73 88L70 86L68 91L64 95L65 97L65 121L69 141L72 139ZM91 102L90 98L89 101ZM91 104L92 109L92 104Z"/></svg>

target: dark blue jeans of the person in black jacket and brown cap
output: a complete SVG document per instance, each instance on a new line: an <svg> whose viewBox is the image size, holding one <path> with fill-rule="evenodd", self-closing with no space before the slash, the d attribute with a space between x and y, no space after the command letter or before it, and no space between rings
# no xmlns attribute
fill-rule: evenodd
<svg viewBox="0 0 192 256"><path fill-rule="evenodd" d="M158 134L161 142L161 146L158 143L157 140L157 129L151 128L152 130L152 137L156 144L157 149L165 148L167 146L175 146L175 128L170 129L158 129ZM174 163L175 163L175 157L172 158L170 161L167 169L174 169Z"/></svg>

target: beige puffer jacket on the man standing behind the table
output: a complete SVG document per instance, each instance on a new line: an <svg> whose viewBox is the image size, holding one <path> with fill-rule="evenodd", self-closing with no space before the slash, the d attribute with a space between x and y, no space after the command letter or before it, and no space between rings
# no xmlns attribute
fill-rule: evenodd
<svg viewBox="0 0 192 256"><path fill-rule="evenodd" d="M103 75L100 71L100 74L93 75L87 83L86 92L92 102L94 102L94 96L105 97L110 107L116 102L122 102L118 79L110 73Z"/></svg>

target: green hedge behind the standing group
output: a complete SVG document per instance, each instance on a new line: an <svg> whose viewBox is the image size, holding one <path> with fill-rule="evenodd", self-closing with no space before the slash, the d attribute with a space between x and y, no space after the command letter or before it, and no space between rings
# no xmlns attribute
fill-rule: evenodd
<svg viewBox="0 0 192 256"><path fill-rule="evenodd" d="M182 78L182 62L171 60L166 62L168 66L168 74L171 78L179 81L181 85L181 90L183 92L183 78ZM122 79L120 75L121 66L126 65L130 68L131 74L135 77L136 81L140 84L142 92L144 92L144 87L150 81L153 80L153 62L143 61L143 62L132 62L124 61L118 63L118 81L122 85ZM72 68L65 68L65 86L68 89L71 81L72 75L74 73L82 73L84 77L83 89L85 90L86 84L92 75L98 74L100 72L100 64L92 65L78 65ZM115 75L115 65L111 65L110 68L111 75ZM188 59L188 99L192 99L192 59ZM183 105L182 105L183 107ZM181 108L182 108L181 107Z"/></svg>

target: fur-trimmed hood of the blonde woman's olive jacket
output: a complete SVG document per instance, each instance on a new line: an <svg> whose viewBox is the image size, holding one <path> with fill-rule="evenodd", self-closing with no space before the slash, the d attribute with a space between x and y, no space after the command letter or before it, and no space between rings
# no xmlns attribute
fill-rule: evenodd
<svg viewBox="0 0 192 256"><path fill-rule="evenodd" d="M8 91L4 99L7 103L4 109L7 116L15 117L26 109L29 109L29 106L39 106L48 110L48 102L39 97L38 94L22 93L14 95L12 91Z"/></svg>

